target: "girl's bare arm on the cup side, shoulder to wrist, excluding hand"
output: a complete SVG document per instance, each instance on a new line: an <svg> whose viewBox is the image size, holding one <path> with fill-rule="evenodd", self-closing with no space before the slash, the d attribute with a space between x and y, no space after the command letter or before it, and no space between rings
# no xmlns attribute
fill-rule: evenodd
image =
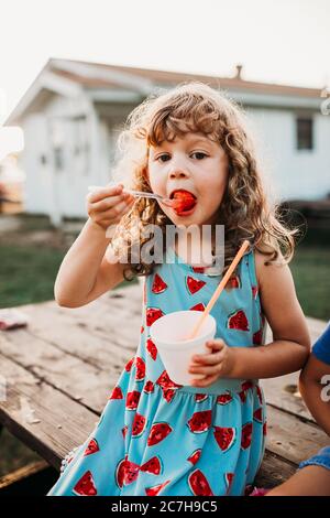
<svg viewBox="0 0 330 518"><path fill-rule="evenodd" d="M273 332L273 342L260 347L234 347L232 378L273 378L304 367L310 350L306 319L298 302L287 265L265 266L265 256L255 253L255 268L263 312Z"/></svg>

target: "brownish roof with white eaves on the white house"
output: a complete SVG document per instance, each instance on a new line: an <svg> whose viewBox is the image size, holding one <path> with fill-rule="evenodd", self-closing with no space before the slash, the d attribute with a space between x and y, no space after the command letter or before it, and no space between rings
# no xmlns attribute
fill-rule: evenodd
<svg viewBox="0 0 330 518"><path fill-rule="evenodd" d="M133 102L139 102L155 87L166 88L189 80L207 83L212 87L228 90L233 98L246 105L319 109L321 88L245 80L241 77L241 66L239 65L237 68L235 77L217 77L51 58L10 114L6 125L20 123L29 110L41 110L43 104L54 93L76 96L88 90L94 100L117 99L125 101L130 99ZM111 97L111 93L117 93L117 97L113 95Z"/></svg>

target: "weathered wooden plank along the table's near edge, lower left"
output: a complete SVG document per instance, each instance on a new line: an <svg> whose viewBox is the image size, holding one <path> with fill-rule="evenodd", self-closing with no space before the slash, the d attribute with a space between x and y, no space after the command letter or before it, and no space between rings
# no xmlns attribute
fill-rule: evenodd
<svg viewBox="0 0 330 518"><path fill-rule="evenodd" d="M98 414L1 354L0 371L6 373L7 379L7 400L0 402L0 422L59 470L66 453L86 441Z"/></svg>

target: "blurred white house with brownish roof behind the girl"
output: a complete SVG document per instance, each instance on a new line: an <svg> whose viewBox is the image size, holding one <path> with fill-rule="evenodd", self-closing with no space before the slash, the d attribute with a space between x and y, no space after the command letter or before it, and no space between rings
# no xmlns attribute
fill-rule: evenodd
<svg viewBox="0 0 330 518"><path fill-rule="evenodd" d="M279 199L330 193L330 116L321 89L163 71L50 60L6 125L23 128L25 211L86 217L88 185L111 180L114 142L129 112L155 87L185 80L220 87L251 116L260 154ZM330 100L330 99L329 99ZM329 111L329 110L328 110Z"/></svg>

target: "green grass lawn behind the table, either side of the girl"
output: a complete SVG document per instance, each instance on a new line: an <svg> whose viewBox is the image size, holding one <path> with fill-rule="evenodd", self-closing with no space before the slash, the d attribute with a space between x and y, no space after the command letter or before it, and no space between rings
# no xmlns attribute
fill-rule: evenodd
<svg viewBox="0 0 330 518"><path fill-rule="evenodd" d="M290 269L306 315L330 317L330 241L304 242ZM53 299L57 270L65 250L41 245L0 244L0 307ZM123 282L120 287L125 285Z"/></svg>

